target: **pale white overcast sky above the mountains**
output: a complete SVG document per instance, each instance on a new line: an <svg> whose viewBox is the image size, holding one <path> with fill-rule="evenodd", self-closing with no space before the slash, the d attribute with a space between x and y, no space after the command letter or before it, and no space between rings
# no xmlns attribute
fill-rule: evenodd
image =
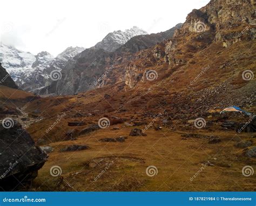
<svg viewBox="0 0 256 206"><path fill-rule="evenodd" d="M114 30L138 26L148 33L183 23L210 0L1 0L4 44L54 56L69 46L89 48Z"/></svg>

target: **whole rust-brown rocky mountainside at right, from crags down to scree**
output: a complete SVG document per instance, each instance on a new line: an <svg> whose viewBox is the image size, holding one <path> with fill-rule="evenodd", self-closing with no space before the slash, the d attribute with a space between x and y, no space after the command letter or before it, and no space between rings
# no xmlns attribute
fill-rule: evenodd
<svg viewBox="0 0 256 206"><path fill-rule="evenodd" d="M242 9L241 9L242 8ZM212 0L188 14L173 38L138 52L126 67L126 91L166 91L179 111L255 104L255 3ZM146 73L154 70L155 81ZM250 70L250 79L242 72ZM158 92L159 93L159 92ZM183 104L177 102L183 102ZM253 103L254 102L254 103ZM161 103L164 105L164 102ZM180 108L184 107L184 108ZM178 112L178 111L177 111Z"/></svg>

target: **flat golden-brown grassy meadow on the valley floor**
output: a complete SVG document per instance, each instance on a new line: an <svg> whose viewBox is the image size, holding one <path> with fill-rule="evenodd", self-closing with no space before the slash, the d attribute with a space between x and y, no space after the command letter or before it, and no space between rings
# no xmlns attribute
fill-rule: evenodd
<svg viewBox="0 0 256 206"><path fill-rule="evenodd" d="M242 168L255 168L255 159L245 157L234 147L252 140L253 133L199 132L219 136L221 142L184 138L167 128L148 129L147 136L129 136L132 127L118 125L79 136L74 141L51 143L54 151L39 170L32 190L65 191L255 191L256 179L242 175ZM198 134L199 134L198 133ZM125 142L100 142L102 138L127 136ZM254 136L255 137L255 136ZM90 149L59 152L68 145L87 145ZM50 170L59 166L61 176ZM149 170L146 173L146 169Z"/></svg>

